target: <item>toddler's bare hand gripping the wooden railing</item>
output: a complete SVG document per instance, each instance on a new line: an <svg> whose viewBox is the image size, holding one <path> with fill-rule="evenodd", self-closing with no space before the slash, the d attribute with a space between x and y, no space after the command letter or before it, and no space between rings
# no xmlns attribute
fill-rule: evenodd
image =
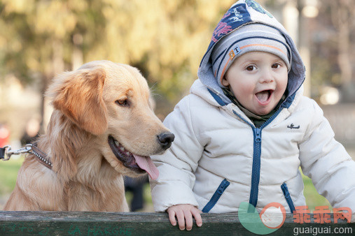
<svg viewBox="0 0 355 236"><path fill-rule="evenodd" d="M200 209L197 209L193 205L190 204L180 204L174 205L167 209L167 213L169 214L170 223L173 226L176 226L176 219L179 223L180 230L185 229L185 221L186 221L186 230L191 230L193 228L193 217L195 217L195 221L198 227L202 226L202 218L200 213Z"/></svg>

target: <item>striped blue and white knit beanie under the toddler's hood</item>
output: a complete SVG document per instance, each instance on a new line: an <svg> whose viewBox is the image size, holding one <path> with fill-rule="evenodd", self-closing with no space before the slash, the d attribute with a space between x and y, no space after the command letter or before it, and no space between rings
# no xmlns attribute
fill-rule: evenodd
<svg viewBox="0 0 355 236"><path fill-rule="evenodd" d="M291 50L286 39L274 27L266 24L246 24L222 38L214 47L211 63L220 87L222 78L233 61L246 52L270 52L280 57L291 68Z"/></svg>

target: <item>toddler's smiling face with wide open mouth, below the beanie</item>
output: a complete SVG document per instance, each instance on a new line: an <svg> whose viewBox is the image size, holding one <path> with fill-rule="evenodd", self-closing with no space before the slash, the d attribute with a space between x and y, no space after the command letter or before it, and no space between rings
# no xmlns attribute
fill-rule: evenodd
<svg viewBox="0 0 355 236"><path fill-rule="evenodd" d="M281 58L268 52L247 52L233 61L222 84L230 86L244 108L267 115L279 103L287 80L287 67Z"/></svg>

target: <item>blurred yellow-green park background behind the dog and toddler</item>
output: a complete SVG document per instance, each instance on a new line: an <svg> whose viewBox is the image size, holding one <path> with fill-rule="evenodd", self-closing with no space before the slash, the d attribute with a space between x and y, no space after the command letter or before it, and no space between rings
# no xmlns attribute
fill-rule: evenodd
<svg viewBox="0 0 355 236"><path fill-rule="evenodd" d="M291 34L314 98L355 158L355 1L260 0ZM211 34L234 0L0 0L0 140L21 147L45 133L52 108L43 96L58 73L106 59L139 68L164 119L190 85ZM1 128L7 130L1 133ZM21 158L0 161L0 209ZM327 205L305 177L311 209ZM144 211L152 211L146 184ZM132 198L130 193L127 196Z"/></svg>

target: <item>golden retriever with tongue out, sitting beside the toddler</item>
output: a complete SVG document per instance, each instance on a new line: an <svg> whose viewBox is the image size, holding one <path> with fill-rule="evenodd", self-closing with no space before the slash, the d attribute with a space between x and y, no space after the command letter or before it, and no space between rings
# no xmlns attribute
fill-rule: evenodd
<svg viewBox="0 0 355 236"><path fill-rule="evenodd" d="M146 80L131 66L92 61L57 76L46 96L55 109L36 143L45 161L27 154L4 210L128 212L123 175L156 179L149 156L174 140Z"/></svg>

